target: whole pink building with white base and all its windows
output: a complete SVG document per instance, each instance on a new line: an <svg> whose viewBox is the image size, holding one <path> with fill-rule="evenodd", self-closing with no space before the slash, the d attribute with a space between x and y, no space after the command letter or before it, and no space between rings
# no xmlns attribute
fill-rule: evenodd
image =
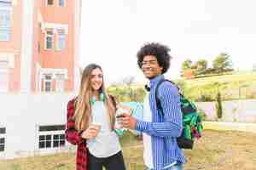
<svg viewBox="0 0 256 170"><path fill-rule="evenodd" d="M68 146L66 105L79 88L80 7L81 0L0 0L0 159Z"/></svg>

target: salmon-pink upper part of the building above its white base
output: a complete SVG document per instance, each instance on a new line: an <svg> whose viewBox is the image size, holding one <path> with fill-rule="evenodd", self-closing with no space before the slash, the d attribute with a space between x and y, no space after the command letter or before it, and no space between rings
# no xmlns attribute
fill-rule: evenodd
<svg viewBox="0 0 256 170"><path fill-rule="evenodd" d="M0 0L1 92L73 91L77 2Z"/></svg>

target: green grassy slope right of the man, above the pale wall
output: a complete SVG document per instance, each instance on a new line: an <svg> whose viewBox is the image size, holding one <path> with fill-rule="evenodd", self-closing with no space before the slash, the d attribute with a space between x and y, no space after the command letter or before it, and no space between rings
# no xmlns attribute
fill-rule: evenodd
<svg viewBox="0 0 256 170"><path fill-rule="evenodd" d="M207 101L215 100L218 91L223 100L256 99L256 72L195 78L184 83L184 94L195 101L200 101L203 95Z"/></svg>

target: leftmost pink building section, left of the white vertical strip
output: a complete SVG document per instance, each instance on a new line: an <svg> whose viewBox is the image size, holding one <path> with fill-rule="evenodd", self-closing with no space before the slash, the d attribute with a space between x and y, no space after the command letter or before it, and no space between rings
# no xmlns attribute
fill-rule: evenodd
<svg viewBox="0 0 256 170"><path fill-rule="evenodd" d="M0 92L20 90L21 3L0 1Z"/></svg>

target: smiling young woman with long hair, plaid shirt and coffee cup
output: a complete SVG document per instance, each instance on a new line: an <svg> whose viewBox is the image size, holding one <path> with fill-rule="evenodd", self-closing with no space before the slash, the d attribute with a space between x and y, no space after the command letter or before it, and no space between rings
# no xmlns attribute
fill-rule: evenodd
<svg viewBox="0 0 256 170"><path fill-rule="evenodd" d="M66 139L77 144L77 170L125 170L119 138L113 131L115 102L106 93L102 68L84 69L79 96L68 102Z"/></svg>

